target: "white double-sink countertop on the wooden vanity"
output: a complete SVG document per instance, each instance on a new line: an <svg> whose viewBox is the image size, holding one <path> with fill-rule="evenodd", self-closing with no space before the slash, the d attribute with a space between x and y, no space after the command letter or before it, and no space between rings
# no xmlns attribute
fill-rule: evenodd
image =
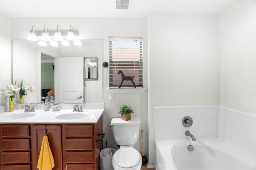
<svg viewBox="0 0 256 170"><path fill-rule="evenodd" d="M60 111L44 111L40 106L38 109L35 107L35 112L24 112L21 108L6 111L0 114L0 123L97 123L104 111L104 104L83 104L86 105L83 107L83 112L73 112L69 105L66 104L68 109L65 105L61 105L64 109Z"/></svg>

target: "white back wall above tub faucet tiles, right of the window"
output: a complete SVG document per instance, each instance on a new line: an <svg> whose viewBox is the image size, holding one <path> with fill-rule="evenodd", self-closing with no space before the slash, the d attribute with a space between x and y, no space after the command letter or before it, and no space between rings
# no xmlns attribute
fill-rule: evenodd
<svg viewBox="0 0 256 170"><path fill-rule="evenodd" d="M149 162L154 162L153 107L218 103L214 15L149 14Z"/></svg>

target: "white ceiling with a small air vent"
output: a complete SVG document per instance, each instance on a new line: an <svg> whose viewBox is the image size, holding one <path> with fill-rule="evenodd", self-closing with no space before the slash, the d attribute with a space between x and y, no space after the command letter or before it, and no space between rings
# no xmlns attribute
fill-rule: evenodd
<svg viewBox="0 0 256 170"><path fill-rule="evenodd" d="M233 0L131 0L116 10L116 0L0 0L10 17L144 17L150 12L216 14Z"/></svg>

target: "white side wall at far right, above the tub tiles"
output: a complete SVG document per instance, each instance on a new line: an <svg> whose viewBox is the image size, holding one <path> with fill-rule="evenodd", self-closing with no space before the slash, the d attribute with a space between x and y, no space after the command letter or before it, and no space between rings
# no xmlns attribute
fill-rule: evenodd
<svg viewBox="0 0 256 170"><path fill-rule="evenodd" d="M218 33L219 105L256 114L256 2L220 12Z"/></svg>

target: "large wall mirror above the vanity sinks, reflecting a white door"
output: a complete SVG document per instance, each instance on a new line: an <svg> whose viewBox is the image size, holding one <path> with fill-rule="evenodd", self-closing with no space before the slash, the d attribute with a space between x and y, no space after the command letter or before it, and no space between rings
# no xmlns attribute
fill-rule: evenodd
<svg viewBox="0 0 256 170"><path fill-rule="evenodd" d="M43 47L38 45L35 41L12 41L13 78L18 79L22 77L28 86L34 87L34 92L28 92L28 95L24 96L24 104L40 102L42 100L42 89L46 91L54 89L55 102L103 102L102 67L97 67L98 62L102 63L103 61L103 40L82 39L81 43L81 46L76 46L72 43L70 43L70 46L63 46L59 43L58 47ZM84 57L86 59L84 59ZM96 64L96 67L90 66L89 68L88 66L90 69L90 78L88 75L87 77L84 75L84 70L86 69L84 62L87 62L87 59L88 62L91 61L91 63ZM96 61L96 63L94 61ZM79 66L75 66L75 64L78 63ZM46 66L42 66L42 64ZM67 64L69 64L68 69L63 67ZM74 66L76 70L72 69L71 66ZM43 71L46 71L47 74L43 73ZM76 71L77 74L72 71ZM52 74L54 74L54 76ZM51 79L51 82L49 82L49 79ZM52 83L52 81L54 81L54 83ZM70 84L66 82L70 82ZM67 88L71 90L67 92ZM78 88L82 88L79 93L75 92ZM65 92L65 100L61 99L61 92ZM79 102L77 101L78 98L80 99Z"/></svg>

